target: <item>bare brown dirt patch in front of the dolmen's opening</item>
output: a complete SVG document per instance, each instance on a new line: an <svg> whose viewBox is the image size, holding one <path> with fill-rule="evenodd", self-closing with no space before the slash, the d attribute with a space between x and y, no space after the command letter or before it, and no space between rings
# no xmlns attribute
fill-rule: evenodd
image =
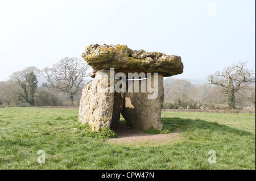
<svg viewBox="0 0 256 181"><path fill-rule="evenodd" d="M113 128L119 138L111 138L108 141L113 144L125 145L159 145L168 142L175 142L182 139L181 128L177 128L174 132L168 134L147 134L137 129L129 129L125 124L119 124L117 128Z"/></svg>

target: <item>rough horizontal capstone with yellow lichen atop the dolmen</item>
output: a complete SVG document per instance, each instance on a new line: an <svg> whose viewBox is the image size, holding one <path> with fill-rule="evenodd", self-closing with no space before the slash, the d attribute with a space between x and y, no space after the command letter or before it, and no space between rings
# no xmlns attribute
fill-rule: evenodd
<svg viewBox="0 0 256 181"><path fill-rule="evenodd" d="M114 68L122 72L158 72L164 77L183 73L180 56L131 50L126 45L89 45L82 57L94 70Z"/></svg>

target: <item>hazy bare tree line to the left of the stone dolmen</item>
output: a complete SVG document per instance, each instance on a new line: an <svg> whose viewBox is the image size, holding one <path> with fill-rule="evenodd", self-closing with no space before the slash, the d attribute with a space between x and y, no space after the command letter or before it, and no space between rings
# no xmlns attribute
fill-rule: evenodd
<svg viewBox="0 0 256 181"><path fill-rule="evenodd" d="M14 72L0 82L0 104L5 106L78 106L88 65L79 58L65 57L52 68L34 66ZM47 82L38 85L38 78Z"/></svg>

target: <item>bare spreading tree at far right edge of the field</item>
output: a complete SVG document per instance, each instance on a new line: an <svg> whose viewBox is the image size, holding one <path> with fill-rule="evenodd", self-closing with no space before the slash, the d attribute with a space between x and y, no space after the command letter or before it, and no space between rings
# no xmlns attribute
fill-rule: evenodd
<svg viewBox="0 0 256 181"><path fill-rule="evenodd" d="M205 77L211 84L220 86L224 94L228 95L230 109L236 107L235 92L255 82L253 70L246 69L245 66L245 62L238 62L221 72L216 71L216 73Z"/></svg>

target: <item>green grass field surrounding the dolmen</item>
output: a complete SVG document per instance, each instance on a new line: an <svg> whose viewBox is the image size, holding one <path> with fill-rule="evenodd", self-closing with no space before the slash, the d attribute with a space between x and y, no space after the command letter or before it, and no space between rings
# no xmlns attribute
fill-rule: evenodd
<svg viewBox="0 0 256 181"><path fill-rule="evenodd" d="M162 112L164 128L182 128L182 139L134 146L90 132L78 112L0 108L0 169L255 169L255 114ZM46 163L38 163L39 150Z"/></svg>

